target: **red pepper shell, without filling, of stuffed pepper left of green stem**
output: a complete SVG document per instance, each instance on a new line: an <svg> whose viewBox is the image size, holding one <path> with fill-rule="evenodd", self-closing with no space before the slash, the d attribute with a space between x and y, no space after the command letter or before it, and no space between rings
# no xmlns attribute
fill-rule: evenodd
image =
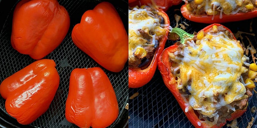
<svg viewBox="0 0 257 128"><path fill-rule="evenodd" d="M164 18L165 24L170 24L170 20L168 15L162 10L159 9L160 15ZM156 67L157 67L157 59L161 52L164 49L166 40L168 37L168 30L166 31L166 35L162 37L162 40L159 42L158 48L154 52L154 56L151 60L150 65L141 69L140 67L131 68L128 67L128 87L129 88L139 88L145 84L147 84L153 77Z"/></svg>

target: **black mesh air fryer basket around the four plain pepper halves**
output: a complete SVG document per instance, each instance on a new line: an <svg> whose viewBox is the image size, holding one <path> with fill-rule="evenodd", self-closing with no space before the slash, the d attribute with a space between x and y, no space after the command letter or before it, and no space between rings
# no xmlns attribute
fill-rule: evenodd
<svg viewBox="0 0 257 128"><path fill-rule="evenodd" d="M71 19L69 32L65 39L53 52L47 55L46 59L53 59L57 64L57 71L60 75L59 88L55 94L49 109L36 121L29 125L20 125L16 119L9 116L5 110L5 100L0 97L0 126L1 127L38 127L38 128L71 128L77 127L65 119L65 102L69 91L69 77L75 68L101 67L91 57L77 48L71 39L73 27L80 23L81 16L85 11L93 9L98 3L106 0L58 0L59 4L68 11ZM108 0L107 0L108 1ZM35 60L29 55L23 55L14 50L11 46L11 28L15 5L19 2L0 0L0 80L1 82L13 73L23 69ZM118 11L125 28L128 28L127 7L125 0L109 0ZM110 24L111 25L111 24ZM128 30L127 30L128 31ZM100 38L100 37L99 37ZM115 90L118 104L119 116L109 127L125 127L128 122L128 110L125 109L128 103L128 63L119 73L107 71L101 67L109 77ZM108 115L105 115L108 118Z"/></svg>

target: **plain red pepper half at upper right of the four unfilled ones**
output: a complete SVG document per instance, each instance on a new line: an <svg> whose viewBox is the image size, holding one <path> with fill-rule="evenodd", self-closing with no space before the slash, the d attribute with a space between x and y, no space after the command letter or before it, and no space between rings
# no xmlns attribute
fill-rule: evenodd
<svg viewBox="0 0 257 128"><path fill-rule="evenodd" d="M128 60L128 35L123 22L108 2L86 11L71 34L74 44L105 69L119 72Z"/></svg>

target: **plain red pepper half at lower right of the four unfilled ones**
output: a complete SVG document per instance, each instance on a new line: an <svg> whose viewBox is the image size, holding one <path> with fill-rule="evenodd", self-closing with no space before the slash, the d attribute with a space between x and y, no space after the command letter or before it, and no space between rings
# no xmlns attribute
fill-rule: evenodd
<svg viewBox="0 0 257 128"><path fill-rule="evenodd" d="M118 114L113 86L101 68L71 72L65 109L67 121L79 127L103 128L111 125Z"/></svg>

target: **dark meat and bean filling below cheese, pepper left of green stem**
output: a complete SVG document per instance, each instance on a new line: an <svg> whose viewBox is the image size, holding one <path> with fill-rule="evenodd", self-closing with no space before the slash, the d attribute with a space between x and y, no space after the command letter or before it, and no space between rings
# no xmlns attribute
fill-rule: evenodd
<svg viewBox="0 0 257 128"><path fill-rule="evenodd" d="M149 16L151 16L153 18L158 18L160 25L165 26L164 25L165 19L163 16L158 14L157 10L155 10L154 8L148 7L148 6L145 6L144 9L146 9L147 11L151 11L152 13L149 14ZM144 48L146 51L146 56L141 58L140 56L136 56L133 53L135 58L133 60L130 60L128 64L129 64L129 67L132 67L132 68L138 67L141 69L146 69L152 62L155 52L158 49L159 44L160 44L161 40L163 39L164 35L153 36L155 34L155 32L149 31L149 33L148 33L142 29L138 29L138 32L143 37L143 39L146 40L146 43L142 46L142 48ZM155 42L153 42L153 39L151 36L149 36L149 34L154 37Z"/></svg>

